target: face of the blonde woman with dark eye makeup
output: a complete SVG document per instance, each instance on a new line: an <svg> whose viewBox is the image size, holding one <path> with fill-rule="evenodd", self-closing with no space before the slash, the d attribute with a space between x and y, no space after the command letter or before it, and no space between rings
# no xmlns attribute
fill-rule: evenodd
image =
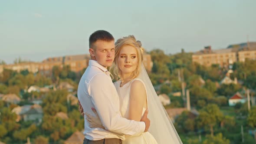
<svg viewBox="0 0 256 144"><path fill-rule="evenodd" d="M131 75L138 65L138 54L133 46L123 46L118 56L118 68L121 75Z"/></svg>

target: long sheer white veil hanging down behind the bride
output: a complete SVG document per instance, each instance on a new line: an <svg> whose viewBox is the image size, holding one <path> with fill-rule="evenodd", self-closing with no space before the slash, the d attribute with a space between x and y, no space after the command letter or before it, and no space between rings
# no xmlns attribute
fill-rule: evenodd
<svg viewBox="0 0 256 144"><path fill-rule="evenodd" d="M144 65L141 66L138 78L144 82L148 96L148 118L151 121L148 131L158 144L182 144L181 138L154 90Z"/></svg>

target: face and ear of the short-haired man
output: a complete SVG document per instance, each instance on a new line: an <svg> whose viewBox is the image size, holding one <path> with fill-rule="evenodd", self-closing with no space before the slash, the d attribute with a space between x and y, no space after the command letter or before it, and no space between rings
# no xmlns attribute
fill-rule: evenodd
<svg viewBox="0 0 256 144"><path fill-rule="evenodd" d="M97 40L94 43L94 48L89 49L93 60L96 60L100 65L109 67L112 65L115 57L114 40L110 42Z"/></svg>

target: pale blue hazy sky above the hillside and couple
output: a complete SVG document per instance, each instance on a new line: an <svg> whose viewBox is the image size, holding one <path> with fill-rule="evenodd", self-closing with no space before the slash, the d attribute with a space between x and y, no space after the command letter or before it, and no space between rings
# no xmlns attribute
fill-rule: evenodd
<svg viewBox="0 0 256 144"><path fill-rule="evenodd" d="M0 60L89 53L98 29L146 51L196 52L256 41L256 0L0 0Z"/></svg>

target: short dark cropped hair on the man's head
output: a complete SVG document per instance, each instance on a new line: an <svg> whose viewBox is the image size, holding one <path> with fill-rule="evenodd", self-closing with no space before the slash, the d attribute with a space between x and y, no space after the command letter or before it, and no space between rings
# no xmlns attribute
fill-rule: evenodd
<svg viewBox="0 0 256 144"><path fill-rule="evenodd" d="M111 33L108 33L105 30L97 30L94 33L91 34L89 38L89 47L92 48L92 45L97 41L102 40L106 42L110 42L112 40L115 40Z"/></svg>

